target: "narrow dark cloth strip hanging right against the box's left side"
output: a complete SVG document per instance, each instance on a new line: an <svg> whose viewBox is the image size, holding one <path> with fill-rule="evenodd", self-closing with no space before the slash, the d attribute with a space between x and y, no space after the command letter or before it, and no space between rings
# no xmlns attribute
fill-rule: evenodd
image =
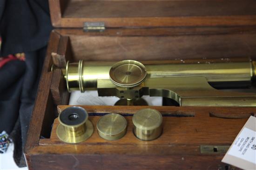
<svg viewBox="0 0 256 170"><path fill-rule="evenodd" d="M46 48L25 53L26 72L23 76L22 91L20 94L19 119L15 125L17 129L14 128L10 135L11 139L14 139L14 161L20 167L26 166L22 148L24 148L27 139L28 125L34 108L34 101L45 53ZM20 134L17 134L18 132L21 133L22 139L19 138Z"/></svg>

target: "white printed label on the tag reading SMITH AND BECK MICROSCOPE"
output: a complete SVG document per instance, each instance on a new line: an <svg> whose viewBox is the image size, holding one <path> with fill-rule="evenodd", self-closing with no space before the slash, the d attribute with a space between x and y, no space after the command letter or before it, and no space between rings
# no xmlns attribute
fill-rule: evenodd
<svg viewBox="0 0 256 170"><path fill-rule="evenodd" d="M236 138L228 154L256 164L256 132L246 127Z"/></svg>

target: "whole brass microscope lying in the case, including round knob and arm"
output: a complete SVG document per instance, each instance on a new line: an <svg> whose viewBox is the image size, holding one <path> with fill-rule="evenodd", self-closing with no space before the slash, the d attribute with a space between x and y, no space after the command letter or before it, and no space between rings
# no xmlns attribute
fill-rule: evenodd
<svg viewBox="0 0 256 170"><path fill-rule="evenodd" d="M129 64L137 70L135 83L125 80L129 77L130 70L133 70L129 68ZM67 63L62 72L69 91L97 89L99 96L117 96L130 101L143 95L162 96L174 99L180 106L256 107L256 93L223 92L211 86L236 87L238 82L251 85L256 80L255 61L145 61L143 64L133 60L118 63L81 60L79 63Z"/></svg>

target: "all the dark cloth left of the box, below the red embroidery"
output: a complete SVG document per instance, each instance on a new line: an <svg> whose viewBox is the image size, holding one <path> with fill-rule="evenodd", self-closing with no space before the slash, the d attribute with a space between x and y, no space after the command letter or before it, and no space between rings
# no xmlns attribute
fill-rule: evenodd
<svg viewBox="0 0 256 170"><path fill-rule="evenodd" d="M46 47L26 52L25 62L11 61L0 69L0 131L11 133L10 137L14 142L13 157L20 167L26 166L22 148L27 139L45 53Z"/></svg>

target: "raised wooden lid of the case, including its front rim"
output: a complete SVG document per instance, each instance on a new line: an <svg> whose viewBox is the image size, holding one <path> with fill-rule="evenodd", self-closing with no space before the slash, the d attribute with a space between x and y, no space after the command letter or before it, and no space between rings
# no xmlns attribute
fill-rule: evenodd
<svg viewBox="0 0 256 170"><path fill-rule="evenodd" d="M256 25L256 0L49 0L55 27Z"/></svg>

